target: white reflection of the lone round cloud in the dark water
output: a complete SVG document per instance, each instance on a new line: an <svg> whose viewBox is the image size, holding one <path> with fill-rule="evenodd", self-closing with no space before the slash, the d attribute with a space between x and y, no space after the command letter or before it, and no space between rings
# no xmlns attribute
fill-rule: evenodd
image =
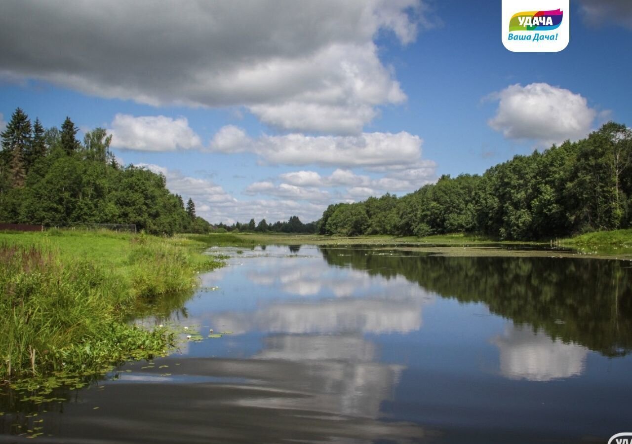
<svg viewBox="0 0 632 444"><path fill-rule="evenodd" d="M501 374L511 379L550 381L581 375L588 349L551 340L545 333L507 327L492 342L499 348Z"/></svg>

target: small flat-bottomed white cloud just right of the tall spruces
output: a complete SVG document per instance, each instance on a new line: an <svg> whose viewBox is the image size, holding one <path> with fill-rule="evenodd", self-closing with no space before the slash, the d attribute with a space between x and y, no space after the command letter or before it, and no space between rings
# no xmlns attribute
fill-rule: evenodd
<svg viewBox="0 0 632 444"><path fill-rule="evenodd" d="M202 147L200 137L190 128L186 117L116 114L107 131L112 135L112 148L175 151Z"/></svg>

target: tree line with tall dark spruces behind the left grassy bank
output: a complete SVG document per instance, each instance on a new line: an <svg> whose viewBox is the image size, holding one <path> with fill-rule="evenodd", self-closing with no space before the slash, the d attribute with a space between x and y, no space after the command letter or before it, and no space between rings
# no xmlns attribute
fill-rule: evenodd
<svg viewBox="0 0 632 444"><path fill-rule="evenodd" d="M61 128L31 124L20 108L0 134L0 221L23 224L136 224L152 234L208 232L195 203L170 193L166 179L109 150L112 136L88 131L83 143L66 117Z"/></svg>

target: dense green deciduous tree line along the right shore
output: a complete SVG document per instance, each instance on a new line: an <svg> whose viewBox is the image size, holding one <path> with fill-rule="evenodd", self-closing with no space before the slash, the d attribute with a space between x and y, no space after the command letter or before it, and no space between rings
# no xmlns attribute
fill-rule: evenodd
<svg viewBox="0 0 632 444"><path fill-rule="evenodd" d="M444 175L401 198L329 205L318 222L320 234L472 232L520 240L631 226L632 131L613 122L482 175Z"/></svg>

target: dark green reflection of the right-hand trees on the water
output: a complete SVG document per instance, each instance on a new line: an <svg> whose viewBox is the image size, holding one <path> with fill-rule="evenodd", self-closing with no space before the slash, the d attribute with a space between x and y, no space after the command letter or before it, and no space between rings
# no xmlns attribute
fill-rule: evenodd
<svg viewBox="0 0 632 444"><path fill-rule="evenodd" d="M605 356L632 351L632 267L616 260L442 257L322 248L330 265L386 279L403 276L463 303L485 303L516 325Z"/></svg>

